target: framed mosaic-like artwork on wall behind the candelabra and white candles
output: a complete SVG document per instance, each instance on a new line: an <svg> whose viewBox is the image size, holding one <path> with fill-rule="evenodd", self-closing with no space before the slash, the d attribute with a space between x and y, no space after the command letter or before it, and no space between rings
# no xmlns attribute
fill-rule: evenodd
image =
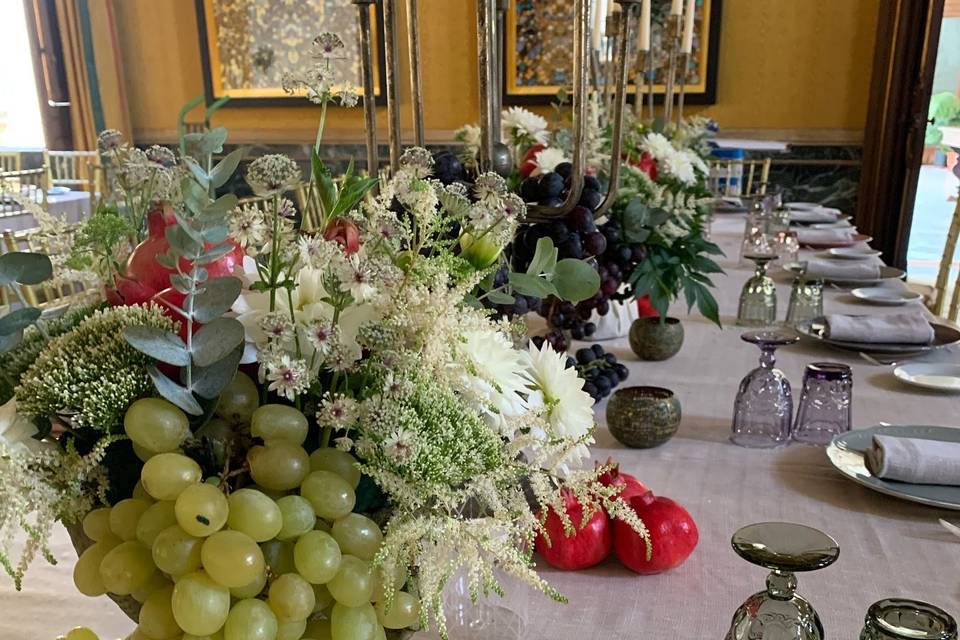
<svg viewBox="0 0 960 640"><path fill-rule="evenodd" d="M612 0L609 0L612 1ZM688 104L713 104L717 93L722 0L696 0L693 51L687 65ZM666 93L667 52L663 41L670 0L653 0L651 48L654 50L654 95ZM504 101L547 104L573 84L573 7L569 0L510 0L506 15L503 60ZM630 85L631 94L636 93ZM646 91L646 89L645 89Z"/></svg>

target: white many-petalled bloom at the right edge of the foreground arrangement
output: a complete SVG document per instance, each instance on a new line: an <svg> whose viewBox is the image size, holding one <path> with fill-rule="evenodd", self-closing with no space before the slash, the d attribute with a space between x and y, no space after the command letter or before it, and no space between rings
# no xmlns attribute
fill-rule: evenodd
<svg viewBox="0 0 960 640"><path fill-rule="evenodd" d="M593 429L593 400L583 390L583 378L567 368L566 354L546 342L538 349L532 342L527 353L527 371L533 388L543 396L545 415L553 434L573 440ZM587 455L583 447L578 454Z"/></svg>

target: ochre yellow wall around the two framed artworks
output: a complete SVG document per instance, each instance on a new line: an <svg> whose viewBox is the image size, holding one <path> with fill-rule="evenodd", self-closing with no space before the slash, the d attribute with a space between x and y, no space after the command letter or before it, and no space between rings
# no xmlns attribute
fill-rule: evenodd
<svg viewBox="0 0 960 640"><path fill-rule="evenodd" d="M203 91L194 0L114 1L136 139L169 141L180 105ZM727 131L859 139L880 1L724 0L717 104L691 111ZM476 2L421 0L420 6L428 138L444 140L478 118ZM401 98L408 123L406 87ZM318 114L304 105L228 107L217 124L229 127L235 142L309 142ZM333 110L327 131L328 140L359 140L361 111Z"/></svg>

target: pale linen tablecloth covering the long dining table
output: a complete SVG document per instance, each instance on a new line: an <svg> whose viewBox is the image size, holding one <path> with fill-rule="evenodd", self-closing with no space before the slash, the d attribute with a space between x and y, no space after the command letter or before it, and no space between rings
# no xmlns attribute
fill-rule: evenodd
<svg viewBox="0 0 960 640"><path fill-rule="evenodd" d="M699 528L697 549L680 567L653 576L633 574L612 558L579 572L544 566L544 577L569 603L554 603L508 584L506 598L498 604L525 620L521 637L723 638L737 607L763 590L767 573L736 556L730 537L743 525L766 521L809 525L839 543L840 557L834 565L798 576L798 592L817 609L829 638L859 637L869 605L886 597L922 600L960 615L960 539L938 523L938 518L960 521L960 513L854 484L832 468L823 447L745 449L729 442L737 386L757 366L759 355L756 347L740 340L744 329L735 324L740 288L751 274L750 268L738 266L743 227L742 215L717 216L712 227L714 240L726 252L719 260L725 273L715 278L723 328L677 305L673 312L681 318L686 338L673 358L641 362L626 338L603 343L629 367L624 385L673 390L683 417L677 435L666 444L628 449L607 431L606 402L601 402L593 458L612 457L655 493L685 506ZM783 318L790 285L781 279L777 286ZM824 306L827 313L902 311L865 306L831 287L825 289ZM944 349L924 359L956 362L960 351ZM905 387L891 367L807 342L777 352L777 366L791 381L795 397L805 366L817 361L852 367L854 428L881 422L960 423L960 395ZM59 564L38 560L26 576L23 592L16 593L7 583L0 586L0 637L52 640L74 625L89 626L105 640L129 633L133 623L109 600L86 598L74 590L71 571L76 556L62 529L53 548Z"/></svg>

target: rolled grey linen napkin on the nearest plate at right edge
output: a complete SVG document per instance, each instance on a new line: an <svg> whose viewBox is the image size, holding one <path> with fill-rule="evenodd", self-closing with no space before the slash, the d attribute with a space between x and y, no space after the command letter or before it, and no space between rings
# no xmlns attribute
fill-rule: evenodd
<svg viewBox="0 0 960 640"><path fill-rule="evenodd" d="M960 485L960 443L873 436L867 469L876 478L914 484Z"/></svg>

